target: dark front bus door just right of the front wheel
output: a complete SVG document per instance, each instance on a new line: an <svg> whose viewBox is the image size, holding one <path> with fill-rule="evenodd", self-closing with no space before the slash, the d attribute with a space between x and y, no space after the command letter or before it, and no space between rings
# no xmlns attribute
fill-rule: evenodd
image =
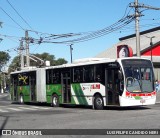
<svg viewBox="0 0 160 138"><path fill-rule="evenodd" d="M105 70L106 105L119 105L118 68Z"/></svg>

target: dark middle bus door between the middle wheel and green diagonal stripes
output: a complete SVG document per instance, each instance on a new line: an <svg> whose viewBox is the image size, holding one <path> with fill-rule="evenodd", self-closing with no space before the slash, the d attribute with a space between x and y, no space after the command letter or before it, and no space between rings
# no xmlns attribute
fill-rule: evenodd
<svg viewBox="0 0 160 138"><path fill-rule="evenodd" d="M62 99L63 103L71 103L71 81L70 71L62 71Z"/></svg>

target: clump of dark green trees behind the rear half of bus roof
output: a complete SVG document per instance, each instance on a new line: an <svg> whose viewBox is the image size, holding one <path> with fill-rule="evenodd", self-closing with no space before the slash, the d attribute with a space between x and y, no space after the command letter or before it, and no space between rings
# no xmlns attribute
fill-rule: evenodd
<svg viewBox="0 0 160 138"><path fill-rule="evenodd" d="M56 60L55 56L54 55L50 55L49 53L42 53L42 54L32 54L33 57L37 62L33 61L33 60L30 60L30 65L31 66L42 66L42 62L38 59L36 59L35 57L38 57L40 58L41 60L43 60L44 62L45 61L50 61L50 65L51 66L55 66L55 65L62 65L62 64L66 64L67 61L64 59L64 58L58 58ZM35 56L35 57L34 57ZM16 56L13 60L12 60L12 63L10 64L9 66L9 72L11 71L14 71L16 69L20 69L20 57L19 56ZM24 63L25 64L25 63Z"/></svg>

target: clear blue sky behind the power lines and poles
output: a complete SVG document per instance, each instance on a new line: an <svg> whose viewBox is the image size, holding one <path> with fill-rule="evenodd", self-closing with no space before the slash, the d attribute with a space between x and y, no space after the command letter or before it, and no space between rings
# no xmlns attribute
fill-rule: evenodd
<svg viewBox="0 0 160 138"><path fill-rule="evenodd" d="M134 9L127 7L134 0L0 0L0 51L8 52L11 60L17 56L17 48L25 30L29 37L40 39L51 34L88 34L113 25L125 15L133 15ZM11 5L12 7L11 7ZM160 0L139 0L153 7L160 7ZM18 14L15 12L15 10ZM142 9L143 10L143 9ZM126 14L125 14L126 13ZM144 10L140 18L140 31L160 24L160 11ZM22 19L23 18L23 19ZM124 37L135 33L135 22L85 42L73 43L73 60L95 57L112 47ZM81 35L77 36L78 38ZM74 37L52 39L52 42L72 40ZM51 42L51 41L50 41ZM70 44L30 44L30 53L47 52L70 63ZM112 54L112 53L111 53Z"/></svg>

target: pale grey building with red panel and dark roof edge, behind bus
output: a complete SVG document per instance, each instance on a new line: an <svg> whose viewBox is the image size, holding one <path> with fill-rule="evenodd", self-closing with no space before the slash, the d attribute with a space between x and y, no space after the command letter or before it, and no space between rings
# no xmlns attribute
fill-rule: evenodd
<svg viewBox="0 0 160 138"><path fill-rule="evenodd" d="M119 38L119 42L102 53L97 58L117 58L117 46L128 45L136 56L136 35L132 34ZM154 65L155 79L160 80L160 27L152 28L140 33L141 57L149 58Z"/></svg>

